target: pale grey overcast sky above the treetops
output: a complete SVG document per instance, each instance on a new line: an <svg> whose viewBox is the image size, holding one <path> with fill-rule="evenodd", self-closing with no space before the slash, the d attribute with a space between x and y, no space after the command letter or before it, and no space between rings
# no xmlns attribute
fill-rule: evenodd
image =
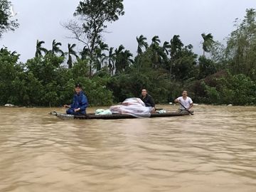
<svg viewBox="0 0 256 192"><path fill-rule="evenodd" d="M18 14L20 27L4 33L1 46L16 50L21 61L33 58L36 40L45 41L50 49L53 39L63 43L78 43L60 23L73 18L79 0L11 0ZM201 33L212 33L215 40L233 31L235 18L243 18L245 10L256 9L255 0L124 0L124 16L108 25L105 42L114 48L120 44L136 53L136 36L143 34L151 41L159 36L162 43L180 35L183 44L191 43L194 51L202 54ZM78 43L79 46L79 43ZM81 48L82 45L80 45Z"/></svg>

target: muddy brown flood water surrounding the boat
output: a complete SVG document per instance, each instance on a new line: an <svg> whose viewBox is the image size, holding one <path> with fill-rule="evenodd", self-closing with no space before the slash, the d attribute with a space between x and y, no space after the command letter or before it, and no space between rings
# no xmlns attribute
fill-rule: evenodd
<svg viewBox="0 0 256 192"><path fill-rule="evenodd" d="M256 191L256 107L113 120L53 110L64 112L0 108L1 192Z"/></svg>

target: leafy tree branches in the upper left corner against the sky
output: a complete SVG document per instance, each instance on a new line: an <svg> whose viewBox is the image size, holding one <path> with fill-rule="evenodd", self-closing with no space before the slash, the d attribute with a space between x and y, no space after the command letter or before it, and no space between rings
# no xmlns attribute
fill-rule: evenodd
<svg viewBox="0 0 256 192"><path fill-rule="evenodd" d="M0 0L0 38L6 31L14 31L18 28L17 19L12 19L11 2Z"/></svg>

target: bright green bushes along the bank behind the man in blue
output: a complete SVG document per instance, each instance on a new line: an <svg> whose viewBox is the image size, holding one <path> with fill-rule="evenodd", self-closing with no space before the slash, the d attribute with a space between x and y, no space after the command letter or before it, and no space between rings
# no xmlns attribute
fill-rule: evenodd
<svg viewBox="0 0 256 192"><path fill-rule="evenodd" d="M17 64L17 60L18 55L6 48L0 50L1 105L9 102L26 106L70 103L75 82L83 85L90 105L112 104L112 92L106 89L110 75L98 73L88 78L87 60L78 59L72 69L63 68L64 58L53 54L32 58L25 65Z"/></svg>

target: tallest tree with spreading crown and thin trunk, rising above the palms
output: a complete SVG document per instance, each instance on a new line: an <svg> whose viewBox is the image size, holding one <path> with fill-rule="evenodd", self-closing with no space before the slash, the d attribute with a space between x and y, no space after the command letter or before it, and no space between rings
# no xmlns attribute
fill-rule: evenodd
<svg viewBox="0 0 256 192"><path fill-rule="evenodd" d="M95 50L102 41L102 32L107 23L117 21L124 15L123 0L85 0L80 1L74 16L78 21L64 24L72 31L75 39L84 43L90 57L90 76L92 76L92 61L95 60Z"/></svg>

